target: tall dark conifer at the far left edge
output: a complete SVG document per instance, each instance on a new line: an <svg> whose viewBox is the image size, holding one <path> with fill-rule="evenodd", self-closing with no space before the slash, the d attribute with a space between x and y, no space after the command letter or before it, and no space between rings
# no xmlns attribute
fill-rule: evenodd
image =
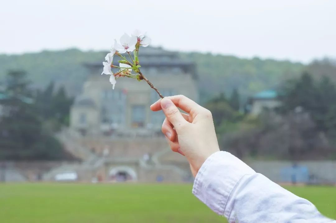
<svg viewBox="0 0 336 223"><path fill-rule="evenodd" d="M29 81L23 71L11 71L0 99L0 159L60 159L61 145L42 128Z"/></svg>

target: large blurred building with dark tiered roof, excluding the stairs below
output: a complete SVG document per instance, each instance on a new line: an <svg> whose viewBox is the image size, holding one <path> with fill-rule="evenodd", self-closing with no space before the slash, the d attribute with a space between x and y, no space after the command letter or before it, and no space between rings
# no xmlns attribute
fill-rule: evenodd
<svg viewBox="0 0 336 223"><path fill-rule="evenodd" d="M195 64L176 52L141 47L141 72L164 96L183 94L198 101ZM127 55L128 56L128 55ZM118 56L114 64L118 64ZM151 135L159 132L164 116L151 112L160 97L145 81L119 78L115 89L108 75L100 75L102 61L85 64L90 76L71 107L70 126L82 135Z"/></svg>

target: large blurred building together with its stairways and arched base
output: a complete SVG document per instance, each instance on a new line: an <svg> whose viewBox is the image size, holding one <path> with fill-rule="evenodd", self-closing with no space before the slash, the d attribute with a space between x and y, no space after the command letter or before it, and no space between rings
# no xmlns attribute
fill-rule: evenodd
<svg viewBox="0 0 336 223"><path fill-rule="evenodd" d="M164 96L183 94L198 101L193 62L162 48L141 47L141 72ZM125 55L128 57L128 55ZM114 64L118 64L118 56ZM81 163L62 164L44 180L181 182L192 179L189 164L171 151L161 126L160 99L145 81L118 78L115 89L100 75L102 61L85 64L90 75L70 111L70 128L58 134L65 149ZM70 177L69 177L70 176ZM75 177L76 176L76 177Z"/></svg>

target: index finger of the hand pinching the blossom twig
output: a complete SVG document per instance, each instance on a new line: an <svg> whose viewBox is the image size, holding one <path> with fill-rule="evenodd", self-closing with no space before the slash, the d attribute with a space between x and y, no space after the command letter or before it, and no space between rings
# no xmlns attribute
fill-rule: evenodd
<svg viewBox="0 0 336 223"><path fill-rule="evenodd" d="M176 105L176 107L181 108L186 113L191 113L192 110L196 111L196 110L202 108L195 101L193 101L190 98L187 98L184 95L169 96L167 98L169 98ZM159 111L159 110L162 109L160 100L161 99L159 99L158 101L156 101L154 104L151 105L151 110L152 111L156 112L156 111Z"/></svg>

